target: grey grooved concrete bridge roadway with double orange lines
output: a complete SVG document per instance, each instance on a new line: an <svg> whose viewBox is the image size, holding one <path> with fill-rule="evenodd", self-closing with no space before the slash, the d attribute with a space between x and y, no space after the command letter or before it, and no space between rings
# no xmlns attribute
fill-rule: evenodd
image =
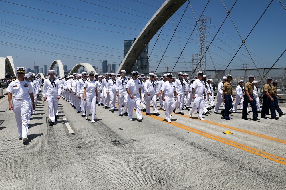
<svg viewBox="0 0 286 190"><path fill-rule="evenodd" d="M0 189L285 189L286 117L202 121L184 110L168 123L160 110L137 122L100 106L93 124L61 99L49 127L47 109L39 97L22 144L0 99Z"/></svg>

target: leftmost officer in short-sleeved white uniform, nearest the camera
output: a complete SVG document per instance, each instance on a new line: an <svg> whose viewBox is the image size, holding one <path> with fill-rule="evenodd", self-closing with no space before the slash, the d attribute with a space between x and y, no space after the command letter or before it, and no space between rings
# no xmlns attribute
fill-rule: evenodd
<svg viewBox="0 0 286 190"><path fill-rule="evenodd" d="M19 138L21 139L23 136L22 142L26 142L28 140L28 125L31 114L30 100L32 101L33 109L36 108L33 94L34 89L30 81L24 79L27 69L24 67L17 67L16 71L18 78L11 81L6 91L9 92L9 110L14 111ZM14 96L13 101L12 94Z"/></svg>

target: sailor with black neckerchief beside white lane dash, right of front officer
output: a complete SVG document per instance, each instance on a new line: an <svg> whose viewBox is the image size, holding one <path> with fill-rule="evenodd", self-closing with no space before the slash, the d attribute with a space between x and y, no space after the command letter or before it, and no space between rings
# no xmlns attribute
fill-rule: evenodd
<svg viewBox="0 0 286 190"><path fill-rule="evenodd" d="M56 113L59 107L58 101L61 98L60 80L55 78L55 70L48 70L49 78L45 80L43 86L44 101L47 101L49 107L49 126L53 126L57 121Z"/></svg>

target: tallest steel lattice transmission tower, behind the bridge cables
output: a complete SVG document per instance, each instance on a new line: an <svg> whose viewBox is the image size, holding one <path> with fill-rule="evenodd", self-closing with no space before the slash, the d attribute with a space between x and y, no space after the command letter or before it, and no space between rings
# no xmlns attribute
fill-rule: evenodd
<svg viewBox="0 0 286 190"><path fill-rule="evenodd" d="M197 29L200 32L200 36L198 37L200 39L200 50L198 53L199 64L196 70L199 70L199 71L206 70L206 56L205 56L206 38L209 37L209 36L206 36L206 29L209 28L209 27L206 27L206 20L208 19L210 18L206 18L204 15L202 15L202 19L200 19L200 28Z"/></svg>

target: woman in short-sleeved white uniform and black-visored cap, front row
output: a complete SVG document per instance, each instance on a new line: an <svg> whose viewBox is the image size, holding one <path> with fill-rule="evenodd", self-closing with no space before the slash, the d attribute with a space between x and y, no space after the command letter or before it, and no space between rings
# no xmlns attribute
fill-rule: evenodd
<svg viewBox="0 0 286 190"><path fill-rule="evenodd" d="M84 101L86 101L86 119L92 109L91 121L95 123L94 117L96 113L96 101L97 101L97 88L98 82L94 78L95 71L88 71L89 80L84 83Z"/></svg>

